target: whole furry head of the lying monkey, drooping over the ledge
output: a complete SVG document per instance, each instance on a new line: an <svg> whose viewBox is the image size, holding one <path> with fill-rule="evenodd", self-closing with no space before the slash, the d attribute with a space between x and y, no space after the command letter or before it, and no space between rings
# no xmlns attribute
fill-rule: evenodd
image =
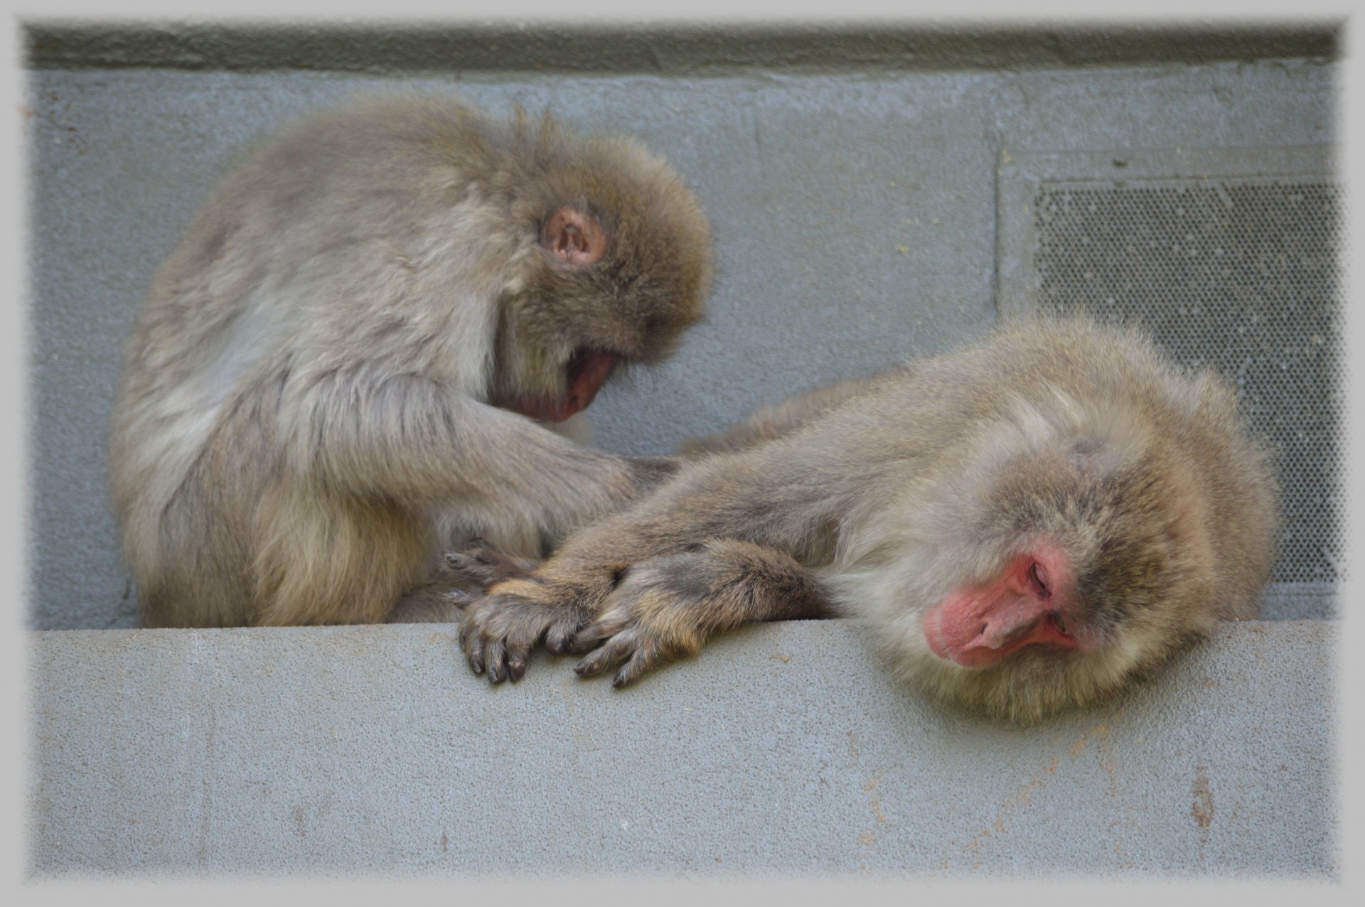
<svg viewBox="0 0 1365 907"><path fill-rule="evenodd" d="M1057 393L965 438L951 476L887 509L861 571L894 670L1028 723L1250 616L1274 561L1274 483L1259 449L1203 424L1237 424L1231 394L1200 393L1158 412Z"/></svg>

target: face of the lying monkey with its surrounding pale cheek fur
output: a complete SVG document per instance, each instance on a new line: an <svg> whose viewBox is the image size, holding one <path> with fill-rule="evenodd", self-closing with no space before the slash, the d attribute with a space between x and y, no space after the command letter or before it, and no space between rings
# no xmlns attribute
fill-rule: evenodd
<svg viewBox="0 0 1365 907"><path fill-rule="evenodd" d="M1072 450L1024 456L976 488L906 502L898 552L875 555L895 566L860 591L895 672L1026 723L1207 636L1207 543L1178 471L1151 458L1096 471Z"/></svg>

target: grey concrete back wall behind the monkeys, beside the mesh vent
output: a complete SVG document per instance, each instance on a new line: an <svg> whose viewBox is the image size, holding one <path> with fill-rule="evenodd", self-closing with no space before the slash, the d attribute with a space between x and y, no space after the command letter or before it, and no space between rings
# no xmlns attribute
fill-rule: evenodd
<svg viewBox="0 0 1365 907"><path fill-rule="evenodd" d="M550 105L639 134L696 188L718 244L710 319L592 406L599 443L631 453L986 330L1002 150L1334 139L1335 65L1314 60L935 72L849 59L818 74L33 72L30 626L135 625L104 487L120 341L233 160L356 91Z"/></svg>

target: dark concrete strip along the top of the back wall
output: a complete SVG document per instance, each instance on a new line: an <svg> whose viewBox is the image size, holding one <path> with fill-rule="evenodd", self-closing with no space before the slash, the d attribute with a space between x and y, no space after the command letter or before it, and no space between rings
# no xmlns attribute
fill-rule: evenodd
<svg viewBox="0 0 1365 907"><path fill-rule="evenodd" d="M34 70L542 71L698 75L804 71L973 70L1336 59L1342 23L1254 19L1152 25L554 22L371 25L31 19Z"/></svg>

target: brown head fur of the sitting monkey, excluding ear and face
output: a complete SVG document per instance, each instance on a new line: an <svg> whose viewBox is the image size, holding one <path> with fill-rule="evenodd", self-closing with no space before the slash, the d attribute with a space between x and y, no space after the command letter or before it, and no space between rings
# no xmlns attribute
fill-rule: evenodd
<svg viewBox="0 0 1365 907"><path fill-rule="evenodd" d="M666 357L710 291L711 233L696 196L637 139L579 136L549 113L517 109L500 154L521 270L502 296L498 390L554 391L569 357L590 345L627 363ZM539 248L561 207L601 224L599 261L575 266Z"/></svg>

